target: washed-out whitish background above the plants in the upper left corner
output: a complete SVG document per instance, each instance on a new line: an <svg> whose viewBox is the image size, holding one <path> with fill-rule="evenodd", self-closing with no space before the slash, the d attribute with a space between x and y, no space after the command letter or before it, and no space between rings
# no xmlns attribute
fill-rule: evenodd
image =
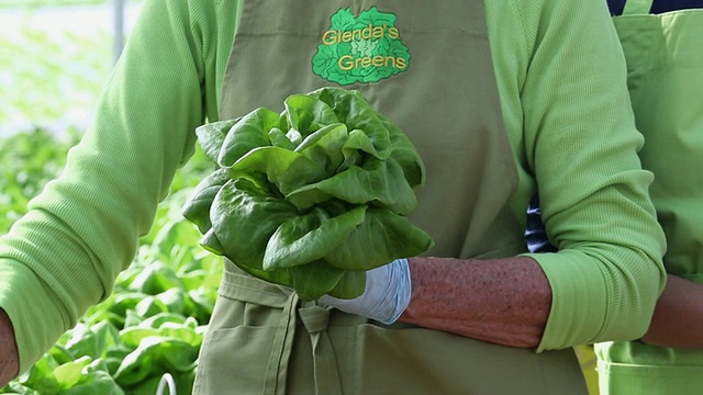
<svg viewBox="0 0 703 395"><path fill-rule="evenodd" d="M104 0L0 3L0 136L89 124L112 70L112 12Z"/></svg>

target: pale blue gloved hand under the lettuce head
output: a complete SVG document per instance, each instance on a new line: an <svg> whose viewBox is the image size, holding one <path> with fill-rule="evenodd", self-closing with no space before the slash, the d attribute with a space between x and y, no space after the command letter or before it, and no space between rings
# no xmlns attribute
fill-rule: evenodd
<svg viewBox="0 0 703 395"><path fill-rule="evenodd" d="M397 259L366 272L366 290L360 296L342 300L324 295L320 302L390 325L405 311L411 294L408 259Z"/></svg>

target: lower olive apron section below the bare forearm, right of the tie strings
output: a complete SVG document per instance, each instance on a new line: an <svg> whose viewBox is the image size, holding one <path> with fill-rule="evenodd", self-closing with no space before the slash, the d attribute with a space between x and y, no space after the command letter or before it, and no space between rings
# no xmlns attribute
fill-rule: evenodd
<svg viewBox="0 0 703 395"><path fill-rule="evenodd" d="M570 349L537 354L424 328L359 325L330 331L336 350L346 343L352 352L337 360L344 387L355 395L587 394Z"/></svg>

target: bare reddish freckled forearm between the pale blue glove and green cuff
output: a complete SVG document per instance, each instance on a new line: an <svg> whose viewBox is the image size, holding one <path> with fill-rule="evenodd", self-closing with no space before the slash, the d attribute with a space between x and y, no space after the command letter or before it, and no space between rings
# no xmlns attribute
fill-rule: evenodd
<svg viewBox="0 0 703 395"><path fill-rule="evenodd" d="M532 258L410 259L413 294L400 320L512 347L536 347L551 289Z"/></svg>

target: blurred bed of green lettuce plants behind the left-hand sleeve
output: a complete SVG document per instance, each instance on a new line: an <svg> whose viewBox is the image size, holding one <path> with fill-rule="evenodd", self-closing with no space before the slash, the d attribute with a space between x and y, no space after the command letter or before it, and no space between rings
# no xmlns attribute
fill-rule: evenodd
<svg viewBox="0 0 703 395"><path fill-rule="evenodd" d="M36 128L0 138L0 232L55 178L77 131L59 136ZM91 307L29 372L0 393L155 394L169 373L178 394L191 392L204 328L221 280L221 261L198 246L200 235L181 206L210 171L198 149L178 171L152 232L140 240L114 292ZM7 218L7 219L5 219Z"/></svg>

